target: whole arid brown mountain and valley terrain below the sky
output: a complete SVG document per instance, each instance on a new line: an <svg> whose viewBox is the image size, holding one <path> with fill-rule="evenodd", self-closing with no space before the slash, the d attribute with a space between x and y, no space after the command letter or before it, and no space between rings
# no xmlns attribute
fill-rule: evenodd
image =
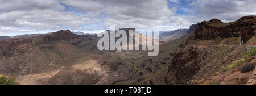
<svg viewBox="0 0 256 96"><path fill-rule="evenodd" d="M256 16L212 19L159 35L159 55L100 51L69 30L0 39L0 74L20 84L256 84ZM135 28L123 28L127 30ZM142 43L141 43L142 44ZM254 69L243 72L246 65Z"/></svg>

